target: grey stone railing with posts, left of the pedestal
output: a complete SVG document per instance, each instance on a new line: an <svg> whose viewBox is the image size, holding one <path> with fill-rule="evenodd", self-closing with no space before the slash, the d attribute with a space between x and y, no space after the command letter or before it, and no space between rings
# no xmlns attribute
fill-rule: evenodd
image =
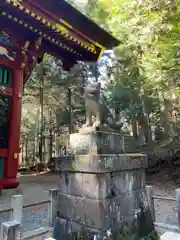
<svg viewBox="0 0 180 240"><path fill-rule="evenodd" d="M50 189L49 199L47 201L28 205L23 205L23 195L12 196L11 208L0 210L0 218L2 222L0 239L52 240L52 225L54 213L56 212L55 200L57 192L57 189ZM44 207L42 208L42 206ZM28 209L30 209L30 211ZM28 211L30 214L27 214ZM46 216L44 216L45 214ZM28 219L29 215L30 219ZM43 220L41 219L42 217L44 217ZM44 225L43 221L45 222Z"/></svg>

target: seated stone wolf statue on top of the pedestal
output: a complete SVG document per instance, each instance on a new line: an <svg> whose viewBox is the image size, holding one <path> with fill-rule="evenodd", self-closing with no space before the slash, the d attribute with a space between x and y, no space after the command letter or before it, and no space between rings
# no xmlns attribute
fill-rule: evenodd
<svg viewBox="0 0 180 240"><path fill-rule="evenodd" d="M97 129L103 125L106 128L120 130L123 124L114 120L107 104L105 104L104 96L100 95L100 91L101 84L99 82L88 83L85 87L86 123L84 127L93 126Z"/></svg>

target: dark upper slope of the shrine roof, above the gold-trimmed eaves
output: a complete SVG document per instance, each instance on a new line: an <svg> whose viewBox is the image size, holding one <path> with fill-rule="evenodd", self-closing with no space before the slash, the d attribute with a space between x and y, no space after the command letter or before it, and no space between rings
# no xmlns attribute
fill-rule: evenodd
<svg viewBox="0 0 180 240"><path fill-rule="evenodd" d="M79 10L64 0L30 0L46 9L48 12L68 22L73 28L81 32L89 39L98 42L106 49L111 49L119 44L119 41L110 33L101 28ZM53 4L52 4L53 3Z"/></svg>

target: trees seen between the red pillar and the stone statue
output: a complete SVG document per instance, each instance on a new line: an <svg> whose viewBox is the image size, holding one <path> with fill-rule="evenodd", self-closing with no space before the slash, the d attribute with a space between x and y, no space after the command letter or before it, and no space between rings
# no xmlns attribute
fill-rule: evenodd
<svg viewBox="0 0 180 240"><path fill-rule="evenodd" d="M28 158L38 160L42 137L44 158L48 160L53 146L58 149L62 143L66 144L70 117L74 130L81 124L85 80L84 64L65 72L60 60L47 55L43 63L36 66L23 97L21 139L22 149L26 149L23 155L28 155L26 162ZM71 99L68 98L68 89L71 90Z"/></svg>

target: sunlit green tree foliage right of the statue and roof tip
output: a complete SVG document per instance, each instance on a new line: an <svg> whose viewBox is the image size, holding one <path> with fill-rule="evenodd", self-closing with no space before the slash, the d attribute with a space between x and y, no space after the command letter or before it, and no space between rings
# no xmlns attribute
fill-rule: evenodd
<svg viewBox="0 0 180 240"><path fill-rule="evenodd" d="M177 125L172 112L179 111L180 102L179 10L175 0L89 0L86 5L87 15L121 41L108 69L109 105L129 122L148 116L149 124L160 124L170 138Z"/></svg>

